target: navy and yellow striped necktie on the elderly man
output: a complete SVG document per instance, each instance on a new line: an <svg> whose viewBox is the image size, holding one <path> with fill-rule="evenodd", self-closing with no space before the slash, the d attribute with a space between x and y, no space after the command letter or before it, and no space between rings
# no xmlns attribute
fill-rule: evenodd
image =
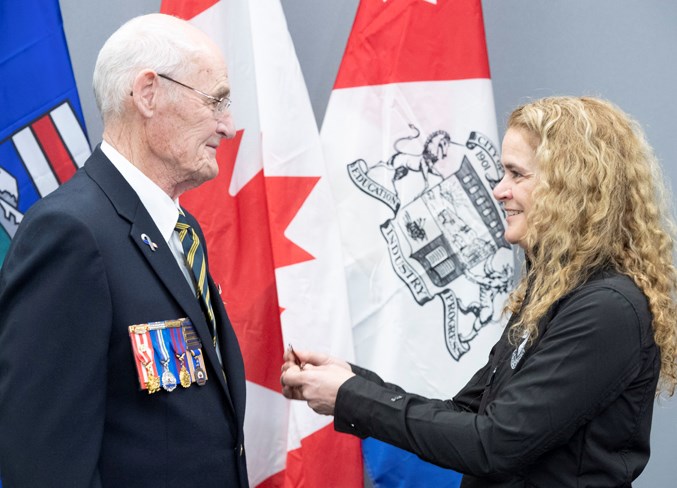
<svg viewBox="0 0 677 488"><path fill-rule="evenodd" d="M207 286L207 262L205 260L204 248L200 244L200 238L197 236L195 229L188 224L186 214L180 208L179 220L174 226L174 230L179 233L179 240L186 257L186 264L188 264L188 268L193 273L195 280L197 298L200 300L202 309L207 316L214 339L214 347L216 347L216 318L214 317L214 309L212 309L212 302L209 297L209 286Z"/></svg>

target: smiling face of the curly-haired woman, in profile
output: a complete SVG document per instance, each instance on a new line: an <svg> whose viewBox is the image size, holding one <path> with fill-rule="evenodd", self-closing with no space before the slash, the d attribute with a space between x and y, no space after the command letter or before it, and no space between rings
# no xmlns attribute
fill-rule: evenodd
<svg viewBox="0 0 677 488"><path fill-rule="evenodd" d="M527 216L531 210L531 193L536 184L536 153L523 129L511 128L503 138L501 162L505 175L494 188L494 198L505 210L505 239L523 249Z"/></svg>

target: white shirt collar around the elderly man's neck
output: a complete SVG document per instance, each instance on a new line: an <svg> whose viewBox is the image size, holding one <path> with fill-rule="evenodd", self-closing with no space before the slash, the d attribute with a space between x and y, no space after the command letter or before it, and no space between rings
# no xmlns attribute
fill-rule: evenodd
<svg viewBox="0 0 677 488"><path fill-rule="evenodd" d="M136 192L141 203L155 225L160 230L165 242L174 232L174 226L179 218L179 200L172 200L162 188L156 185L150 178L130 163L117 149L106 141L101 143L101 151L110 159L113 166L122 174L122 177L129 183L129 186Z"/></svg>

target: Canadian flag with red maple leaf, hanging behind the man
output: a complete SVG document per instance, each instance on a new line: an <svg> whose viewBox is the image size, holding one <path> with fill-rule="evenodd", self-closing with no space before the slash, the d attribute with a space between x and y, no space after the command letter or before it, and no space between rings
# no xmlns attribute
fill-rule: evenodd
<svg viewBox="0 0 677 488"><path fill-rule="evenodd" d="M286 344L353 356L335 209L279 0L163 0L222 48L237 136L217 178L182 196L244 354L245 447L261 487L362 487L359 441L281 394Z"/></svg>

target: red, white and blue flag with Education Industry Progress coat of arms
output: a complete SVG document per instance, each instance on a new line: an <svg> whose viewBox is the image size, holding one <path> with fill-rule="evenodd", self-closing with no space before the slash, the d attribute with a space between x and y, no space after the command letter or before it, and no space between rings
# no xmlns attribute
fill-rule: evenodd
<svg viewBox="0 0 677 488"><path fill-rule="evenodd" d="M321 135L357 363L451 398L501 333L514 269L491 195L502 169L480 0L361 0ZM371 439L363 451L376 487L460 482Z"/></svg>

